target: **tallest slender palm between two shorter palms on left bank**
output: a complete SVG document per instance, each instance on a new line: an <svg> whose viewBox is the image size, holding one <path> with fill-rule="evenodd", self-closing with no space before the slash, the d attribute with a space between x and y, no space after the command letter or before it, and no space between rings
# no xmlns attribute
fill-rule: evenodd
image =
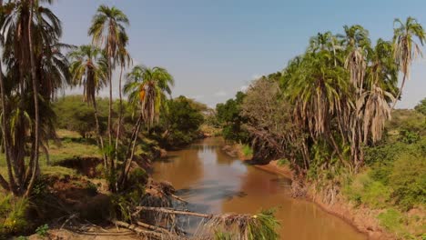
<svg viewBox="0 0 426 240"><path fill-rule="evenodd" d="M119 55L127 41L123 41L123 36L127 36L125 26L129 25L127 15L116 7L100 5L96 15L93 17L92 25L88 30L88 35L92 36L93 43L97 46L104 44L107 63L107 79L109 82L109 111L108 111L108 139L109 146L112 146L112 70ZM114 169L114 158L110 155L110 168Z"/></svg>

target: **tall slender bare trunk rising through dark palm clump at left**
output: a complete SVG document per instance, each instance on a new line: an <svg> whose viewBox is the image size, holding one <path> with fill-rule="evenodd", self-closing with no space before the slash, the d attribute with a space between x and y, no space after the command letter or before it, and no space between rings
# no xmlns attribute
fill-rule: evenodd
<svg viewBox="0 0 426 240"><path fill-rule="evenodd" d="M30 0L30 14L28 18L28 40L29 40L29 48L30 48L30 61L31 61L31 76L33 78L33 94L34 94L34 107L35 107L35 147L34 147L34 165L33 165L33 175L31 176L31 180L26 188L25 196L28 196L33 188L35 177L37 175L38 170L38 145L39 145L39 124L40 124L40 115L38 112L38 81L35 73L35 59L34 59L34 48L33 48L33 40L32 40L32 19L33 19L33 9L34 9L34 0Z"/></svg>

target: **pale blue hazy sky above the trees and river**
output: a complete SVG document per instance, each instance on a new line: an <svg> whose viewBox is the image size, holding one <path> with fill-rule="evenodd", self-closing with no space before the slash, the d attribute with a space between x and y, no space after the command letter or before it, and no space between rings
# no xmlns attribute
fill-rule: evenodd
<svg viewBox="0 0 426 240"><path fill-rule="evenodd" d="M424 0L57 0L51 8L63 22L62 41L90 43L87 29L101 4L128 16L135 64L167 68L176 81L173 96L209 106L261 75L281 71L319 32L341 33L343 25L359 24L375 41L391 39L395 17L411 15L426 26ZM419 59L397 107L411 108L426 97L425 78L426 60Z"/></svg>

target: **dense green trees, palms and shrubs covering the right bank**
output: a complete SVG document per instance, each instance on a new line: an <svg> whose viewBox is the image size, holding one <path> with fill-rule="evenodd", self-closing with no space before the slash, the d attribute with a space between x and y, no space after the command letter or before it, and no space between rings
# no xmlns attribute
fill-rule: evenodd
<svg viewBox="0 0 426 240"><path fill-rule="evenodd" d="M224 137L251 145L253 160L288 159L294 182L312 186L323 202L343 196L374 210L372 217L398 238L420 238L426 100L415 111L393 106L421 53L424 30L411 17L397 19L393 39L375 44L360 25L343 30L313 36L307 51L281 72L260 77L246 93L218 105L218 122ZM299 185L292 190L307 194Z"/></svg>

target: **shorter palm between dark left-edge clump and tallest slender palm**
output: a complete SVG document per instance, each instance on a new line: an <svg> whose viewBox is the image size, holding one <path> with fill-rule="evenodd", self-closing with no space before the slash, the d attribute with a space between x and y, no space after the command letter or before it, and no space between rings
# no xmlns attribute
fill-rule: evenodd
<svg viewBox="0 0 426 240"><path fill-rule="evenodd" d="M106 85L107 70L102 50L93 45L81 45L69 54L70 72L73 85L83 86L83 96L87 103L92 104L95 111L96 135L101 149L104 140L100 132L97 114L96 95ZM106 167L104 155L104 166Z"/></svg>

